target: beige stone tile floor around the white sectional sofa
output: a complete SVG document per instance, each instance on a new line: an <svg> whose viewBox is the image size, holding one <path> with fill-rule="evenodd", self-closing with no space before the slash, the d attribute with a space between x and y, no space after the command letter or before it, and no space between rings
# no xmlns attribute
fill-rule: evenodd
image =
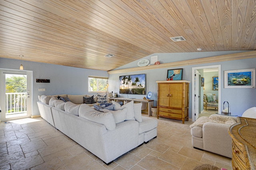
<svg viewBox="0 0 256 170"><path fill-rule="evenodd" d="M231 170L230 158L192 148L191 124L160 118L157 138L107 166L42 118L1 122L0 170L192 170L204 163Z"/></svg>

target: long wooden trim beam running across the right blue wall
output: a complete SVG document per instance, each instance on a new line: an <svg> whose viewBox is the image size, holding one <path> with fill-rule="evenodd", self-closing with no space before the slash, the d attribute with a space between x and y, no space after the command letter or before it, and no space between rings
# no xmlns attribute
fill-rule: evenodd
<svg viewBox="0 0 256 170"><path fill-rule="evenodd" d="M151 70L151 69L162 69L168 67L180 67L186 65L197 65L197 64L205 64L205 63L215 63L215 62L222 62L222 61L232 61L238 59L249 59L255 58L256 51L248 51L242 53L233 53L233 54L226 54L226 55L218 55L214 57L205 57L205 58L198 58L198 59L189 59L185 61L176 61L172 63L163 63L160 65L148 65L145 67L134 67L128 69L119 69L119 70L112 70L108 71L108 74L117 74L117 73L127 73L132 71L143 71L143 70Z"/></svg>

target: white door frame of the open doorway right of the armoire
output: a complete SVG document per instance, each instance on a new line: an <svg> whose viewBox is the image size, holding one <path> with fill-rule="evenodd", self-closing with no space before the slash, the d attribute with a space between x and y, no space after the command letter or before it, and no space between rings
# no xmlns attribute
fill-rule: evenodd
<svg viewBox="0 0 256 170"><path fill-rule="evenodd" d="M192 111L191 111L192 115L191 115L191 117L192 117L193 122L195 121L195 117L194 117L194 115L195 115L195 101L194 101L194 96L195 96L194 77L195 77L195 73L196 73L197 69L210 69L210 68L218 68L218 85L219 85L219 89L218 89L218 103L219 103L218 113L220 114L220 111L221 111L221 105L220 105L220 103L221 103L221 80L222 80L222 78L221 78L221 65L209 65L209 66L202 66L202 67L192 67L192 95L191 95L192 96L192 99L191 99L191 101L192 101L192 104L191 104L191 106L192 106ZM201 96L202 96L202 94L201 94Z"/></svg>

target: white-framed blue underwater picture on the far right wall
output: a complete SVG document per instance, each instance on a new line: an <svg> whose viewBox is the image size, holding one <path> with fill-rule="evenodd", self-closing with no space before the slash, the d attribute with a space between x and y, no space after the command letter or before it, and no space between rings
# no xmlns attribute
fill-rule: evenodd
<svg viewBox="0 0 256 170"><path fill-rule="evenodd" d="M224 71L224 88L255 88L255 69Z"/></svg>

